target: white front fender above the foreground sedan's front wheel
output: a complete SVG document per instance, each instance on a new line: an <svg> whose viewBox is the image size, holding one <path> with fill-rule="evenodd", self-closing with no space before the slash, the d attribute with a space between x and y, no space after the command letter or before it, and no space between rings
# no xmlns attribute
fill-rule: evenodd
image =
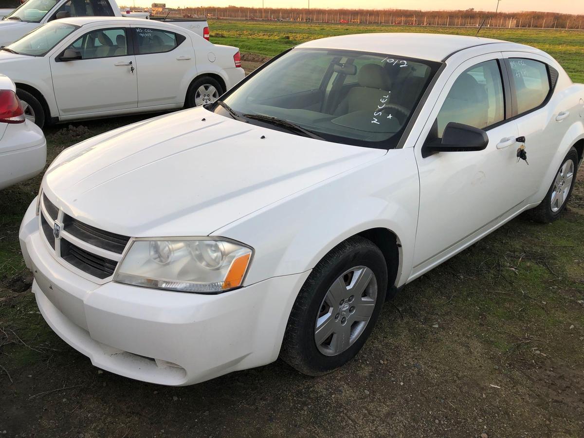
<svg viewBox="0 0 584 438"><path fill-rule="evenodd" d="M391 174L391 185L379 180ZM339 211L329 221L329 211ZM343 240L386 228L401 248L395 286L412 270L418 223L419 179L413 149L390 150L350 171L301 190L211 233L229 237L255 249L245 286L269 277L312 269ZM277 227L274 227L277 224Z"/></svg>

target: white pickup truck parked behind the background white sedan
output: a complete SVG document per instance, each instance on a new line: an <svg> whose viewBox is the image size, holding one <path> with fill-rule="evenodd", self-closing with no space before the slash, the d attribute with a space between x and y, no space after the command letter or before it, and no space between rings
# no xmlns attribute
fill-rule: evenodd
<svg viewBox="0 0 584 438"><path fill-rule="evenodd" d="M6 16L0 21L0 46L8 46L34 29L60 18L88 16L150 18L148 12L122 13L116 0L28 0L18 8L4 13ZM179 27L184 27L206 40L209 39L209 25L205 19L170 20Z"/></svg>

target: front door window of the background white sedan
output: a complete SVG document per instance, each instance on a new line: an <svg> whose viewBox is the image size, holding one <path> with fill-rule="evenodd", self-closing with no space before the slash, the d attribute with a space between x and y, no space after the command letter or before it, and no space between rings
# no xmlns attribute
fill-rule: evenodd
<svg viewBox="0 0 584 438"><path fill-rule="evenodd" d="M127 55L126 31L124 29L94 30L86 33L68 48L78 50L84 60Z"/></svg>

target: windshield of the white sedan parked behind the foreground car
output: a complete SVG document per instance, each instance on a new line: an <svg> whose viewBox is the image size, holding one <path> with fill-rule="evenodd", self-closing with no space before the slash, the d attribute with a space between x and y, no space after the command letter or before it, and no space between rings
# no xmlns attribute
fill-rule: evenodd
<svg viewBox="0 0 584 438"><path fill-rule="evenodd" d="M43 56L78 27L58 21L50 22L27 33L6 48L20 55Z"/></svg>

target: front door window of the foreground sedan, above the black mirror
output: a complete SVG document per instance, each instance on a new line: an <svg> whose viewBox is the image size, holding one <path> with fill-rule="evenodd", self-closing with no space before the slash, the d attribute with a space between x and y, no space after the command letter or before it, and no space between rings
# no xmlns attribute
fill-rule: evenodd
<svg viewBox="0 0 584 438"><path fill-rule="evenodd" d="M451 121L486 128L505 119L503 84L497 61L474 65L454 82L438 113L438 137Z"/></svg>

